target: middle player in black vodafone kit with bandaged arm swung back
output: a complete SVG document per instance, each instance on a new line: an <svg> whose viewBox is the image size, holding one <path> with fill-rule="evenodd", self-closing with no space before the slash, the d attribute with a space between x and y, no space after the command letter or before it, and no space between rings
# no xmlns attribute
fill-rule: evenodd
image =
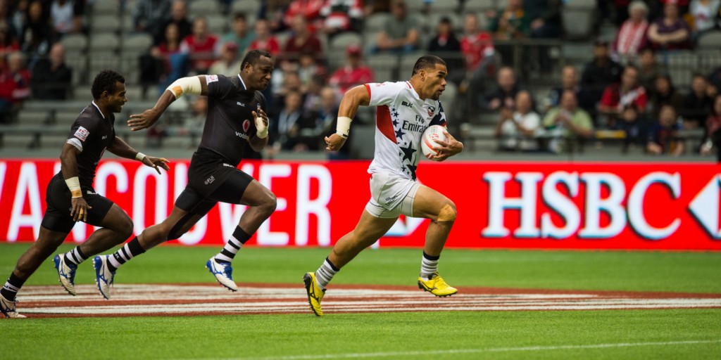
<svg viewBox="0 0 721 360"><path fill-rule="evenodd" d="M96 256L102 264L97 278L105 297L115 270L134 256L167 240L180 238L218 202L244 204L243 212L226 246L205 266L216 280L232 291L231 261L237 251L275 211L275 195L237 166L248 148L260 151L267 145L268 117L260 91L270 84L273 58L263 50L252 50L243 59L237 76L200 75L180 78L168 86L155 106L131 115L133 131L153 125L167 107L185 94L208 96L208 114L198 150L193 154L187 186L175 200L169 217L143 231L109 256Z"/></svg>

